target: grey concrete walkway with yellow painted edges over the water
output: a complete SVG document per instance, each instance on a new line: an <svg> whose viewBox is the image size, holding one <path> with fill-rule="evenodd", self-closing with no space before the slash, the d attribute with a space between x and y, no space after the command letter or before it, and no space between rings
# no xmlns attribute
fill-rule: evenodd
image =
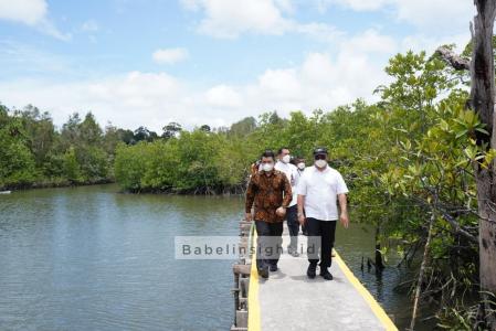
<svg viewBox="0 0 496 331"><path fill-rule="evenodd" d="M243 226L247 228L249 224ZM250 227L250 233L245 241L249 247L256 243L253 227ZM299 244L306 244L306 237L298 239ZM288 243L289 236L285 231L283 247ZM278 270L270 273L265 280L258 277L255 258L256 252L246 256L244 265L234 267L239 275L238 284L243 284L244 279L245 285L240 288L245 287L247 298L238 297L238 308L241 309L236 309L236 320L231 330L398 330L338 254L333 257L330 273L334 280L330 281L318 276L308 279L306 256L295 258L286 252L277 265ZM238 293L243 295L243 290Z"/></svg>

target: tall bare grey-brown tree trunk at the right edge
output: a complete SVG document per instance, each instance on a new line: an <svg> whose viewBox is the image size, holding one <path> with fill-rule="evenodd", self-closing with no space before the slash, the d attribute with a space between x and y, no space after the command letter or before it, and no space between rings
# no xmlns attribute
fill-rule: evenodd
<svg viewBox="0 0 496 331"><path fill-rule="evenodd" d="M494 57L493 25L496 15L496 0L475 0L477 15L474 18L473 55L471 62L471 107L486 125L489 136L478 135L479 146L487 143L496 148L494 130ZM475 166L479 216L479 264L481 290L496 293L496 163L485 169ZM484 300L483 300L484 301ZM486 300L487 301L487 300ZM496 329L496 317L489 303L483 303L484 318L489 329Z"/></svg>

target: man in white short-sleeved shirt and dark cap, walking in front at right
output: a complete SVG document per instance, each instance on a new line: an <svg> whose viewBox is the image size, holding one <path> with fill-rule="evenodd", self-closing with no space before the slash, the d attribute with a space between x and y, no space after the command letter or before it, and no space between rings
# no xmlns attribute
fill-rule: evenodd
<svg viewBox="0 0 496 331"><path fill-rule="evenodd" d="M333 275L328 268L331 264L336 221L339 218L345 227L349 224L346 196L348 188L342 175L327 164L327 149L315 149L314 159L314 166L307 168L299 179L298 221L306 225L308 249L315 253L308 253L308 278L315 278L319 260L317 254L320 252L320 276L331 280ZM340 213L336 203L338 200Z"/></svg>

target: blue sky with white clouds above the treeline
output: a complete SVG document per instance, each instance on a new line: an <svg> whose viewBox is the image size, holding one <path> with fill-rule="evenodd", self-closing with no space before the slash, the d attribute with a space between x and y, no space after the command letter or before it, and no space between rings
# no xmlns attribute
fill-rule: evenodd
<svg viewBox="0 0 496 331"><path fill-rule="evenodd" d="M471 0L0 0L0 103L161 132L377 100L397 53L458 50Z"/></svg>

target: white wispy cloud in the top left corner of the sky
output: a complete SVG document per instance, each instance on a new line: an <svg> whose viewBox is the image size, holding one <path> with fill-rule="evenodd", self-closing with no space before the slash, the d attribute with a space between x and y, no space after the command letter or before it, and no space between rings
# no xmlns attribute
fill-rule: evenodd
<svg viewBox="0 0 496 331"><path fill-rule="evenodd" d="M20 22L56 39L70 40L71 34L62 33L46 18L48 8L45 0L0 0L0 20Z"/></svg>

